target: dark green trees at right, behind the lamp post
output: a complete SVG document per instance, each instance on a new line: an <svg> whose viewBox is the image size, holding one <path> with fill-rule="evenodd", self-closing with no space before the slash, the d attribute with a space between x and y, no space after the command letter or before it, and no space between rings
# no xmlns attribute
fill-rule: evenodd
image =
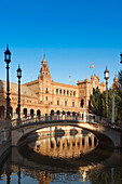
<svg viewBox="0 0 122 184"><path fill-rule="evenodd" d="M112 96L116 93L114 100L114 121L122 121L122 89L114 88L108 90L108 119L112 117ZM89 111L97 116L105 117L106 91L100 93L99 89L93 90L93 95L90 96Z"/></svg>

